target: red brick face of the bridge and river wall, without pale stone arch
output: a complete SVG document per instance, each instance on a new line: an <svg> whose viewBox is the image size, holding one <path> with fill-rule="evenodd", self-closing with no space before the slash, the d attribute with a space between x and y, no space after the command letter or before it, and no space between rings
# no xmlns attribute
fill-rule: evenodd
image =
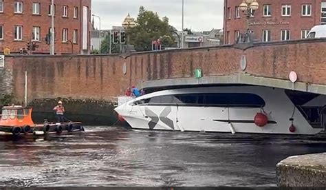
<svg viewBox="0 0 326 190"><path fill-rule="evenodd" d="M119 56L7 56L14 93L23 100L24 72L28 71L28 97L105 99L124 94L131 85L146 80L194 77L243 72L241 55L248 62L245 72L255 76L288 80L291 71L298 81L326 85L326 41L307 40L259 43L247 50L232 46L171 50ZM127 72L124 74L123 65ZM140 86L141 88L141 86Z"/></svg>

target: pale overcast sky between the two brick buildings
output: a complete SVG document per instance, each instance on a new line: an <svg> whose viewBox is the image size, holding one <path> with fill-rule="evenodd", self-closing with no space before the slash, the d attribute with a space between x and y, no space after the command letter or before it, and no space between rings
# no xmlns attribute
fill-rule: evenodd
<svg viewBox="0 0 326 190"><path fill-rule="evenodd" d="M182 0L92 0L92 13L101 19L101 29L121 25L130 13L136 18L140 6L168 17L177 30L182 28ZM98 18L94 18L98 28ZM193 31L223 28L223 0L184 0L184 28Z"/></svg>

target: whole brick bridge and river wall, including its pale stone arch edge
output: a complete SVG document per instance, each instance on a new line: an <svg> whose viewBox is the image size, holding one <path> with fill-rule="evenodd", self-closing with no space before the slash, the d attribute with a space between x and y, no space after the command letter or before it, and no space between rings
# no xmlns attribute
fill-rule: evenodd
<svg viewBox="0 0 326 190"><path fill-rule="evenodd" d="M202 78L194 71L202 70ZM28 102L66 98L112 101L131 85L153 89L182 85L250 84L326 94L326 39L305 39L184 50L92 56L6 56L1 94ZM1 95L0 94L0 95ZM87 110L85 110L87 112Z"/></svg>

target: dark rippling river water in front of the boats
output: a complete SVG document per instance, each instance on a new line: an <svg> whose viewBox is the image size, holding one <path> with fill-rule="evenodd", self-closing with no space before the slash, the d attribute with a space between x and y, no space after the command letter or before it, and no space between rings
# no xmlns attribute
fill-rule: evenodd
<svg viewBox="0 0 326 190"><path fill-rule="evenodd" d="M276 163L326 151L325 136L85 127L0 138L0 186L276 186Z"/></svg>

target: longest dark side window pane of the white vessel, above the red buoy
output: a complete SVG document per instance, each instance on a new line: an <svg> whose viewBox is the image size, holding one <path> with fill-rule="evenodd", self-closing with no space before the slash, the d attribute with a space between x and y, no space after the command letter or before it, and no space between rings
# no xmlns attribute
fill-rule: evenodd
<svg viewBox="0 0 326 190"><path fill-rule="evenodd" d="M263 107L265 106L265 101L256 94L219 93L206 94L205 104L227 107Z"/></svg>

